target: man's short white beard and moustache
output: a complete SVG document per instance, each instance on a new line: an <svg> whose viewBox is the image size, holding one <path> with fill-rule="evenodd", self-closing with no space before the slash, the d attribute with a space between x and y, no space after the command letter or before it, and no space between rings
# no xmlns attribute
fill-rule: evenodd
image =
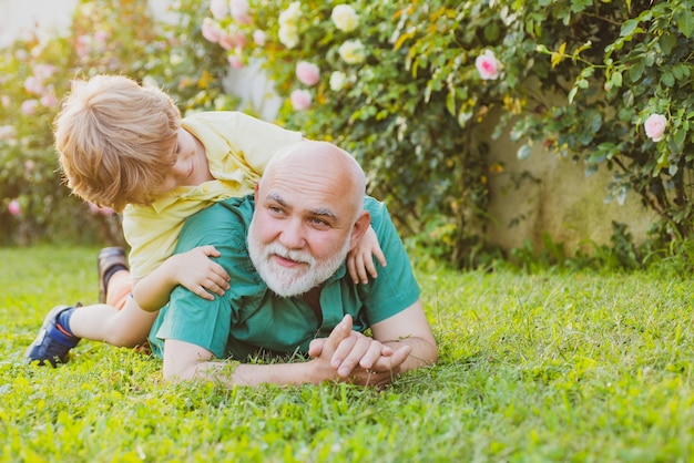
<svg viewBox="0 0 694 463"><path fill-rule="evenodd" d="M248 256L267 287L277 296L285 298L304 295L326 281L337 271L349 251L349 239L346 239L335 256L319 261L308 251L287 249L276 241L263 246L255 228L254 217L248 228ZM306 265L297 268L283 267L273 259L273 255Z"/></svg>

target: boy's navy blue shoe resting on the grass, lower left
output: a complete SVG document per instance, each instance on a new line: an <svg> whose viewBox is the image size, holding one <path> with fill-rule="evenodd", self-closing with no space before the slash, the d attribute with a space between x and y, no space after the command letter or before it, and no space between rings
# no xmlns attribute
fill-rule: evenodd
<svg viewBox="0 0 694 463"><path fill-rule="evenodd" d="M80 342L80 338L68 333L60 325L58 325L58 317L65 310L70 310L76 307L81 307L81 303L75 306L55 306L43 319L43 326L39 336L33 340L24 358L27 363L38 362L40 366L50 363L57 367L58 363L65 363L68 361L68 353L70 349L75 347Z"/></svg>

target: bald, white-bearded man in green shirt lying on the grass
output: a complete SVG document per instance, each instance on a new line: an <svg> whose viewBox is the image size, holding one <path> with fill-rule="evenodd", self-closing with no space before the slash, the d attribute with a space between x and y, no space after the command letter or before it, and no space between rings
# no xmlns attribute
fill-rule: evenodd
<svg viewBox="0 0 694 463"><path fill-rule="evenodd" d="M345 258L369 223L388 266L355 285ZM376 385L437 360L419 287L388 213L365 199L361 168L329 143L283 148L254 196L188 218L177 251L202 245L220 250L216 260L231 275L231 289L211 301L183 287L172 292L150 335L166 379ZM363 333L368 328L371 337ZM312 359L215 361L243 361L258 351Z"/></svg>

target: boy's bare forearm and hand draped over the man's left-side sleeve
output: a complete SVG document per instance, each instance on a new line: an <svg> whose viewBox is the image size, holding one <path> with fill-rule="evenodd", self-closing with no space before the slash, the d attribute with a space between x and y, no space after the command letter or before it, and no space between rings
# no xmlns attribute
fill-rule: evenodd
<svg viewBox="0 0 694 463"><path fill-rule="evenodd" d="M156 311L169 302L171 291L178 285L207 300L214 299L211 292L224 296L229 289L229 276L211 257L220 257L214 246L200 246L171 256L134 285L135 302L143 310Z"/></svg>

